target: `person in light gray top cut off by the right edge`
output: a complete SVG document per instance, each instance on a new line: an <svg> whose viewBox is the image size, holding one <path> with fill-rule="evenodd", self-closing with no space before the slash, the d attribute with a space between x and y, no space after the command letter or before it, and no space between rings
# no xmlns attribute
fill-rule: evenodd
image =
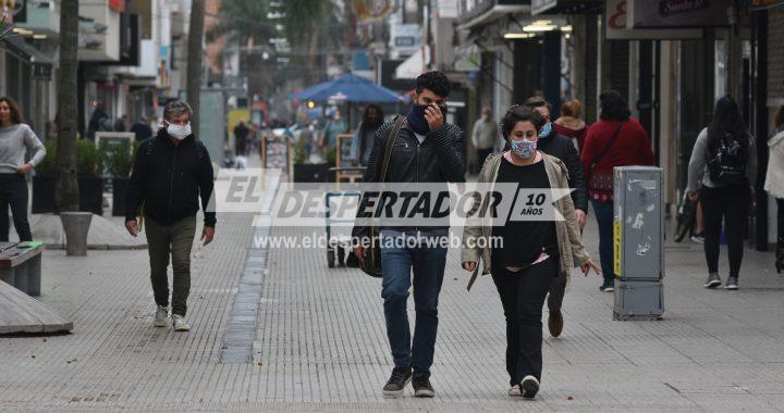
<svg viewBox="0 0 784 413"><path fill-rule="evenodd" d="M764 190L776 199L776 272L784 270L784 104L773 116L773 136L768 140L770 158Z"/></svg>

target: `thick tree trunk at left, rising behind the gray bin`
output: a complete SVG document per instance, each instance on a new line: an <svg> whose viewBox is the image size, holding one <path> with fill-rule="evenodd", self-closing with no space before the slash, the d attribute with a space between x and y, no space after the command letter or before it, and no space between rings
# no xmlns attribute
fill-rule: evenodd
<svg viewBox="0 0 784 413"><path fill-rule="evenodd" d="M58 139L54 211L78 211L76 120L78 100L78 0L60 3L60 75L58 78Z"/></svg>

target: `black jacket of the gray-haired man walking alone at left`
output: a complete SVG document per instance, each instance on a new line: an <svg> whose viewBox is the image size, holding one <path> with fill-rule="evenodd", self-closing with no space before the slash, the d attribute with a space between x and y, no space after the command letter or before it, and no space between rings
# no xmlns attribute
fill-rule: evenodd
<svg viewBox="0 0 784 413"><path fill-rule="evenodd" d="M191 135L174 145L166 129L146 140L136 153L125 191L125 220L135 220L144 201L145 216L162 225L196 215L212 195L212 163L204 143ZM216 213L205 212L205 226L215 226Z"/></svg>

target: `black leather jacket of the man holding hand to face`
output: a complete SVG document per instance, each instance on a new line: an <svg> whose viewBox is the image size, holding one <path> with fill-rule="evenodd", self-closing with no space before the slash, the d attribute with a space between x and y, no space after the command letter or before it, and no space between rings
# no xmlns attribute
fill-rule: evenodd
<svg viewBox="0 0 784 413"><path fill-rule="evenodd" d="M394 127L394 121L384 123L376 133L373 147L370 150L367 170L363 183L379 183L381 180L381 164L387 151L387 139ZM460 127L444 124L430 132L419 143L414 130L407 123L403 123L397 139L392 147L387 183L464 183L465 157L464 135ZM367 202L359 204L362 211ZM368 234L367 227L355 225L352 231L354 237ZM414 227L395 227L396 230L409 230ZM449 229L449 220L444 226L422 227L422 230Z"/></svg>

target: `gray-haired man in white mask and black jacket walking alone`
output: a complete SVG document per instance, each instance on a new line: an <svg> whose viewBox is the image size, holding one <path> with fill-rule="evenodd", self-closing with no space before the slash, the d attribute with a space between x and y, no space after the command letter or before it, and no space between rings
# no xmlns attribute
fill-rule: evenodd
<svg viewBox="0 0 784 413"><path fill-rule="evenodd" d="M150 280L158 309L154 325L169 324L167 267L171 255L173 276L172 323L187 331L185 322L191 290L191 247L201 197L204 245L215 236L216 213L207 211L212 196L212 163L201 141L191 132L191 107L173 101L163 109L163 127L139 147L125 192L125 228L136 237L140 214L147 222Z"/></svg>

